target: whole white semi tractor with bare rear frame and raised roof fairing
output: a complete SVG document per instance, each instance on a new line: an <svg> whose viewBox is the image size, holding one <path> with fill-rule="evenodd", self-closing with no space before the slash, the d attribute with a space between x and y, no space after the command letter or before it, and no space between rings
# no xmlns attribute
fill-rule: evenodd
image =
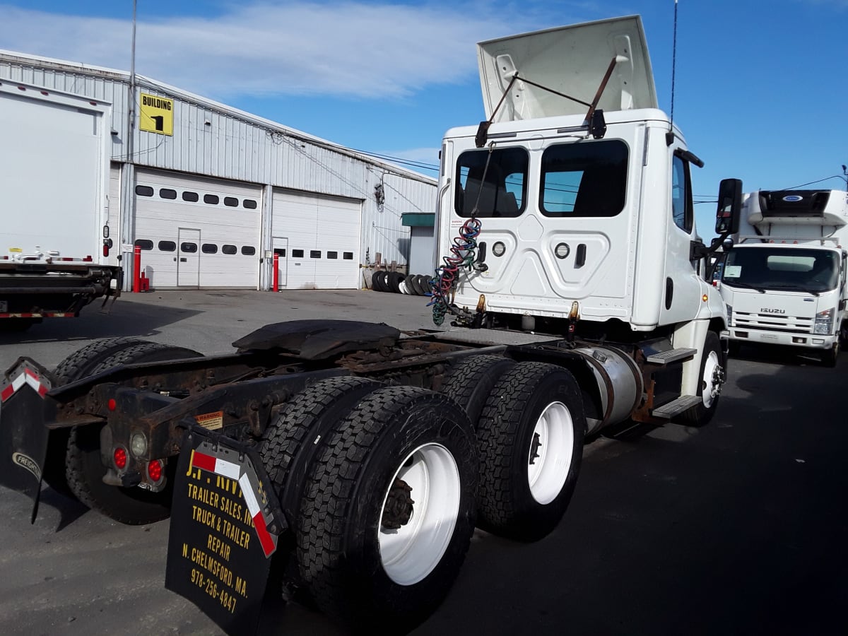
<svg viewBox="0 0 848 636"><path fill-rule="evenodd" d="M121 522L170 513L166 586L229 633L255 625L269 572L400 632L475 525L553 530L584 440L710 421L727 325L701 162L657 108L639 17L478 52L488 120L442 148L438 328L291 321L233 354L118 338L53 371L22 358L0 382L3 483L37 500L43 476ZM740 205L722 181L722 237Z"/></svg>

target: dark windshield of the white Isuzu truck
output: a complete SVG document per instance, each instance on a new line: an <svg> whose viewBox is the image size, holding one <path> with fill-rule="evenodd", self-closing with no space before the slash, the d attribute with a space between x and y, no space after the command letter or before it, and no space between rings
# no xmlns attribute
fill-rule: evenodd
<svg viewBox="0 0 848 636"><path fill-rule="evenodd" d="M839 282L839 255L827 249L745 248L730 250L722 282L733 287L826 292Z"/></svg>

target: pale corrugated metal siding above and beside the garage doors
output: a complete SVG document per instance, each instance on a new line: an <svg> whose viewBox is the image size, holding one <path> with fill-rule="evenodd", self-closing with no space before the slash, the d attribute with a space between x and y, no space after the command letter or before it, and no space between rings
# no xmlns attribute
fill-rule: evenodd
<svg viewBox="0 0 848 636"><path fill-rule="evenodd" d="M112 103L112 130L117 133L112 136L112 158L127 160L128 74L0 53L3 79ZM374 263L377 253L385 262L405 264L410 231L401 225L400 215L435 209L434 179L332 148L328 142L148 78L137 77L136 92L136 100L139 92L174 100L174 135L139 131L136 126L135 165L360 199L364 265ZM382 204L375 192L378 185Z"/></svg>

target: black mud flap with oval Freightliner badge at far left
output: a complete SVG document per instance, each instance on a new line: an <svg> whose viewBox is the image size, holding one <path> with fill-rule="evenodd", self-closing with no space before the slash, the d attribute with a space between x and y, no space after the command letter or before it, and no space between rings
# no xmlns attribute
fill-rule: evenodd
<svg viewBox="0 0 848 636"><path fill-rule="evenodd" d="M0 379L0 485L32 499L31 522L42 492L46 422L55 415L55 403L45 394L55 384L42 365L28 358L18 359Z"/></svg>

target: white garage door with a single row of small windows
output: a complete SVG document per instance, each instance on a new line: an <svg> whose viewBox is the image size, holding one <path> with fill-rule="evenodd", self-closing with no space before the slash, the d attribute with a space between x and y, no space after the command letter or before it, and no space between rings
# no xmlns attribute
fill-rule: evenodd
<svg viewBox="0 0 848 636"><path fill-rule="evenodd" d="M274 192L272 223L280 287L359 287L360 201L279 190Z"/></svg>

